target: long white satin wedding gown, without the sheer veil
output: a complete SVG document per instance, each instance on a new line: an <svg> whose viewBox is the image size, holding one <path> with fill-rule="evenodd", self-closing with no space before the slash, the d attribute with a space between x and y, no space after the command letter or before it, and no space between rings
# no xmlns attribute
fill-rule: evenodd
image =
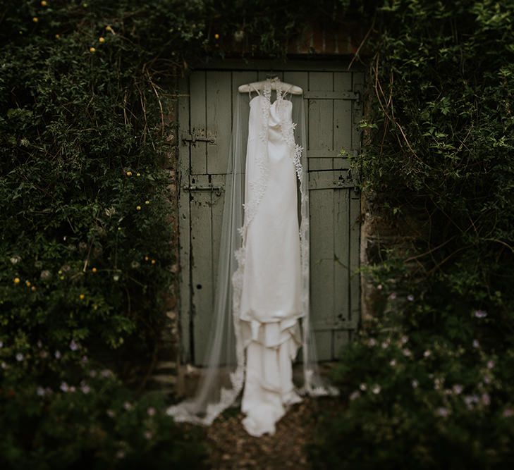
<svg viewBox="0 0 514 470"><path fill-rule="evenodd" d="M292 380L302 316L292 102L269 92L250 100L245 173L240 325L245 347L243 426L273 434L289 404L301 399ZM290 132L292 135L292 132Z"/></svg>

